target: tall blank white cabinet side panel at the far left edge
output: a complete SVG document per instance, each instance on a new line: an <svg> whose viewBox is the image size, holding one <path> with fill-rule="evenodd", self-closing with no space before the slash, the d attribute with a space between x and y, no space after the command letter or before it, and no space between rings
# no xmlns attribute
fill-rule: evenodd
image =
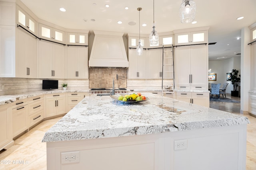
<svg viewBox="0 0 256 170"><path fill-rule="evenodd" d="M0 25L0 77L15 77L15 26Z"/></svg>

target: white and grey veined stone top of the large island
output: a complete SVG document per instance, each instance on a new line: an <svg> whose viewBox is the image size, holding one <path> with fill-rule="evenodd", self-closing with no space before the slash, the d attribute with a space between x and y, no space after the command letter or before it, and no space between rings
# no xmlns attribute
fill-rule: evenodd
<svg viewBox="0 0 256 170"><path fill-rule="evenodd" d="M44 135L42 142L72 141L250 123L247 117L143 93L149 98L122 104L110 96L90 94Z"/></svg>

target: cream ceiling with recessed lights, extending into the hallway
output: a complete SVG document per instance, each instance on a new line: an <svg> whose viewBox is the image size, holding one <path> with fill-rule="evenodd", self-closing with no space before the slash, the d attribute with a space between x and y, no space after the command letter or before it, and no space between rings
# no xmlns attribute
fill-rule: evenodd
<svg viewBox="0 0 256 170"><path fill-rule="evenodd" d="M153 0L21 0L38 18L64 28L139 32L149 34L153 26ZM256 22L256 0L194 0L196 17L192 23L181 23L179 8L182 0L155 0L154 20L156 31L168 32L176 29L210 26L208 42L209 60L237 57L241 53L241 29ZM105 5L109 7L106 8ZM125 7L129 7L125 10ZM61 12L59 8L65 8ZM236 18L244 16L242 20ZM91 20L95 21L91 21ZM86 20L86 21L85 21ZM117 21L122 21L118 24ZM135 25L130 25L135 22ZM228 45L229 44L229 45ZM216 59L225 57L221 59Z"/></svg>

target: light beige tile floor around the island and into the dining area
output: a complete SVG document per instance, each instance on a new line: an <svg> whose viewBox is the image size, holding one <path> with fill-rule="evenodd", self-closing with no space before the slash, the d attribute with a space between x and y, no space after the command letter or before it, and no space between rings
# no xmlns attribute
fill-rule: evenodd
<svg viewBox="0 0 256 170"><path fill-rule="evenodd" d="M227 96L234 100L234 98ZM235 114L240 114L240 103L210 102L210 107ZM247 125L246 170L256 170L256 118L246 115ZM0 151L0 160L8 164L0 164L0 170L46 170L46 143L42 143L44 133L61 117L46 120L14 141L14 146Z"/></svg>

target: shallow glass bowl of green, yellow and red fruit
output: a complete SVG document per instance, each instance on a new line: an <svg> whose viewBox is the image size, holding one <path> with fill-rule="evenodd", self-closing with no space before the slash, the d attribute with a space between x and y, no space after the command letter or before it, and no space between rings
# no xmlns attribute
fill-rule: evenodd
<svg viewBox="0 0 256 170"><path fill-rule="evenodd" d="M110 95L110 97L122 103L136 103L136 102L144 102L148 100L148 98L146 96L143 96L141 93L116 94L116 95Z"/></svg>

